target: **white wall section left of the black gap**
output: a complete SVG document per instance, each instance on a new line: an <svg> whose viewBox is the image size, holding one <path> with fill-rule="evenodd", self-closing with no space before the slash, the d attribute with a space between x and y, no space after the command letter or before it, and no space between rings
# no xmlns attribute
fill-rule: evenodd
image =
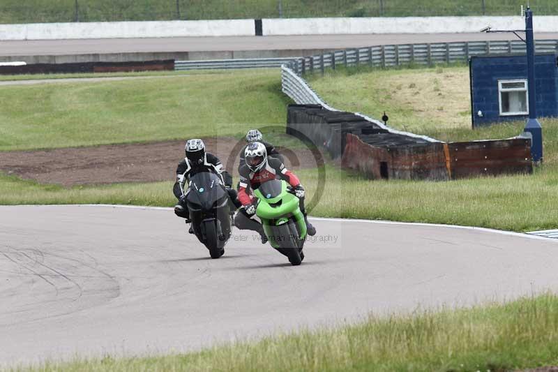
<svg viewBox="0 0 558 372"><path fill-rule="evenodd" d="M254 20L0 24L0 40L254 35Z"/></svg>

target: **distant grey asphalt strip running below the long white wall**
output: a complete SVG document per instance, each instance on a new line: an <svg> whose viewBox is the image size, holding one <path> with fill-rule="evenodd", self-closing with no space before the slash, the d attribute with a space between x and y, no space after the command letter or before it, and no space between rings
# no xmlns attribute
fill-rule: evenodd
<svg viewBox="0 0 558 372"><path fill-rule="evenodd" d="M536 34L558 39L558 34ZM408 43L513 40L512 34L374 34L310 36L241 36L93 40L0 41L0 56L105 54L133 52L214 52L241 50L316 50Z"/></svg>

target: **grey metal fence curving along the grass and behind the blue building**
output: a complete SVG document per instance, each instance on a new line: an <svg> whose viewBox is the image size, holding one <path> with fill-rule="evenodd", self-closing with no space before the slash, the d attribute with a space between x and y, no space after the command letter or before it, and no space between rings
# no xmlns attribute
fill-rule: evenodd
<svg viewBox="0 0 558 372"><path fill-rule="evenodd" d="M558 40L536 40L536 52L558 52ZM457 43L380 45L338 50L311 57L292 59L287 66L298 75L324 73L326 68L368 65L393 67L466 63L469 57L481 54L525 53L525 43L511 41L469 41Z"/></svg>

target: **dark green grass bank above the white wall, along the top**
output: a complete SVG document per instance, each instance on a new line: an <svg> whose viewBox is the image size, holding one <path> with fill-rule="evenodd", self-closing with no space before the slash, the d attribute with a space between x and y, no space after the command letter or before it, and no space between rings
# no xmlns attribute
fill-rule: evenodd
<svg viewBox="0 0 558 372"><path fill-rule="evenodd" d="M80 22L121 20L212 20L280 17L402 17L482 15L481 0L78 0ZM280 6L281 4L281 6ZM383 4L383 6L381 5ZM520 0L485 0L486 15L518 15ZM536 14L557 14L554 0L531 0ZM73 22L74 0L3 0L0 23Z"/></svg>

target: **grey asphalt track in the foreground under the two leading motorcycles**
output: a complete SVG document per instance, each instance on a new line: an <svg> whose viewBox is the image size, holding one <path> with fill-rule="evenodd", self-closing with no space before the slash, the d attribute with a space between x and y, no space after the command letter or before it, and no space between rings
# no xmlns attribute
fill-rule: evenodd
<svg viewBox="0 0 558 372"><path fill-rule="evenodd" d="M558 289L558 241L482 229L314 219L292 267L236 231L209 259L171 209L0 207L0 366L155 355L368 311ZM326 241L327 240L327 241Z"/></svg>

